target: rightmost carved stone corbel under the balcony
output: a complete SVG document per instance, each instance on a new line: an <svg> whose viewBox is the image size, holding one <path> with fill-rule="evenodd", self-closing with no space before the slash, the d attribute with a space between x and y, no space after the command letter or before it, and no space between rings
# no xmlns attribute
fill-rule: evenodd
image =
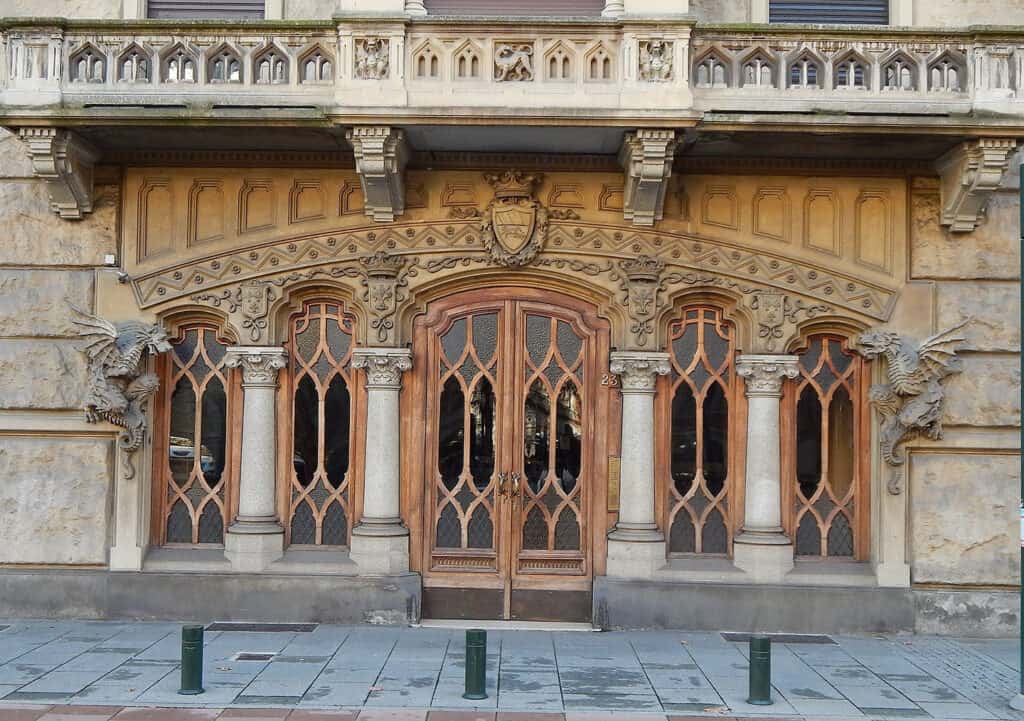
<svg viewBox="0 0 1024 721"><path fill-rule="evenodd" d="M942 156L936 162L942 178L941 223L952 232L974 230L1016 152L1016 139L981 137Z"/></svg>

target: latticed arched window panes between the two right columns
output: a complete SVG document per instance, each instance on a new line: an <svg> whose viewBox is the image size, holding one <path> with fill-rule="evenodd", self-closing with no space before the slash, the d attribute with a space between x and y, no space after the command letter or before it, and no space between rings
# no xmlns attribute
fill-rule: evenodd
<svg viewBox="0 0 1024 721"><path fill-rule="evenodd" d="M669 553L728 554L734 329L718 308L688 307L669 325Z"/></svg>

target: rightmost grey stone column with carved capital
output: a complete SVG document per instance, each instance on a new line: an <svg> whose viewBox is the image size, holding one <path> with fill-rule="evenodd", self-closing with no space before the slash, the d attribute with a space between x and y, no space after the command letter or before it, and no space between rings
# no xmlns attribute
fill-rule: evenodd
<svg viewBox="0 0 1024 721"><path fill-rule="evenodd" d="M740 355L746 380L746 489L743 529L733 559L755 582L779 582L793 569L793 542L782 532L779 400L786 378L800 375L796 355Z"/></svg>

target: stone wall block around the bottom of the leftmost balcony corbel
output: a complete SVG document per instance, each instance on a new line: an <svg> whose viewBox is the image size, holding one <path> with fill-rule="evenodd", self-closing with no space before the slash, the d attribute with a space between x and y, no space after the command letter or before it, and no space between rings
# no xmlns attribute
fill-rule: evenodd
<svg viewBox="0 0 1024 721"><path fill-rule="evenodd" d="M0 265L101 265L117 246L116 185L96 185L93 212L69 221L38 180L0 181Z"/></svg>

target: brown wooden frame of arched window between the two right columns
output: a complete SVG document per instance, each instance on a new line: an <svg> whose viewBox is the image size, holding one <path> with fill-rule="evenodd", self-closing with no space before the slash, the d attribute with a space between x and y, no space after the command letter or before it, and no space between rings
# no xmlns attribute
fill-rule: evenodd
<svg viewBox="0 0 1024 721"><path fill-rule="evenodd" d="M726 354L728 362L720 367L720 376L726 382L725 399L728 404L728 420L726 432L728 448L726 450L727 474L725 479L724 494L725 501L723 508L723 520L726 528L725 552L708 552L702 548L702 544L695 543L693 552L679 552L673 550L672 523L679 512L683 510L683 503L678 494L673 490L672 477L672 434L673 418L672 406L676 387L680 381L678 374L678 363L673 353L672 341L675 335L674 329L682 323L688 312L712 313L717 319L718 328L727 329L730 336L730 343ZM732 555L732 541L739 531L743 519L743 482L744 482L744 459L745 459L745 423L746 423L746 398L743 394L743 383L735 374L736 356L739 353L740 338L735 322L729 316L726 309L713 302L691 302L681 306L674 312L666 327L666 343L663 347L672 356L670 362L672 372L668 376L663 376L657 380L657 395L655 402L655 473L656 487L655 512L656 517L663 524L666 537L666 549L670 558L700 558L700 557L727 557ZM709 386L710 387L710 386ZM698 409L699 410L699 409ZM701 426L702 416L698 413L697 425ZM702 430L699 431L702 434ZM700 449L696 450L699 455ZM721 506L721 502L719 503ZM701 513L703 510L701 511Z"/></svg>

